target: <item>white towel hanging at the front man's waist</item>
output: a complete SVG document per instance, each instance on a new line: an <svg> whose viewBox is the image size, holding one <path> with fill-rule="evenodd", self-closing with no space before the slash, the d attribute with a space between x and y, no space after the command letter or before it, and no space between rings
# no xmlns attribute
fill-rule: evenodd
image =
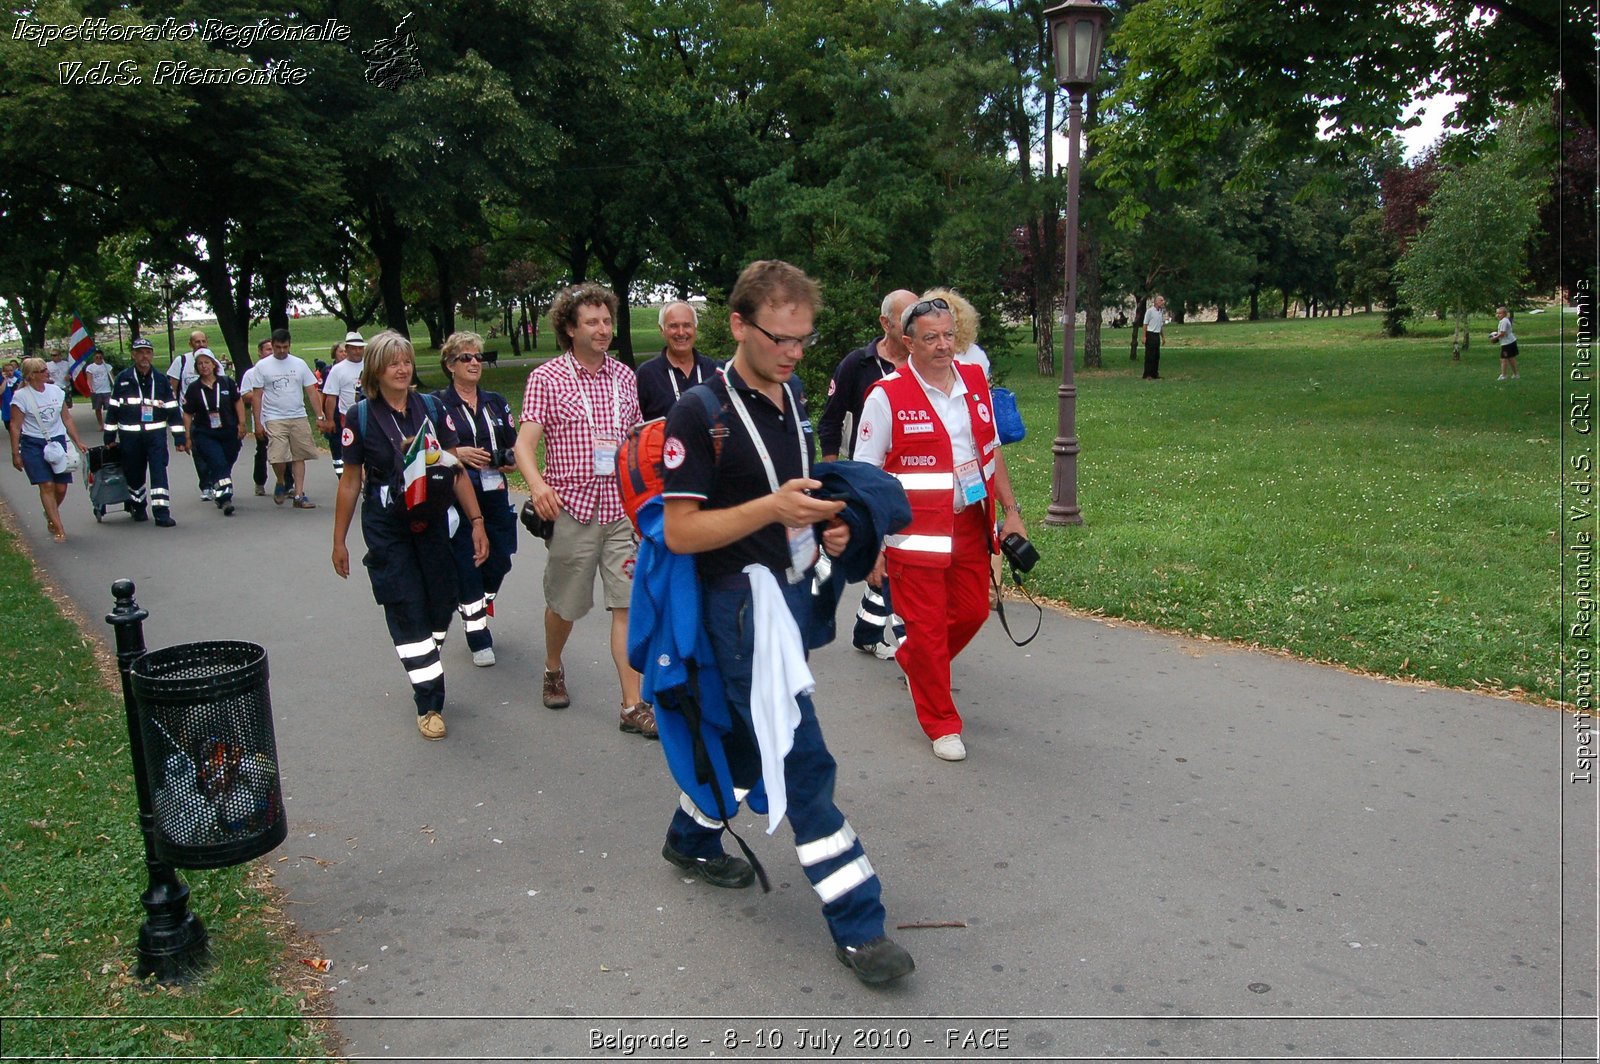
<svg viewBox="0 0 1600 1064"><path fill-rule="evenodd" d="M797 694L816 690L805 664L800 626L789 613L778 579L765 565L747 565L750 576L750 622L755 651L750 658L750 725L762 750L762 779L766 782L766 834L771 835L789 811L784 786L784 758L795 744L800 726Z"/></svg>

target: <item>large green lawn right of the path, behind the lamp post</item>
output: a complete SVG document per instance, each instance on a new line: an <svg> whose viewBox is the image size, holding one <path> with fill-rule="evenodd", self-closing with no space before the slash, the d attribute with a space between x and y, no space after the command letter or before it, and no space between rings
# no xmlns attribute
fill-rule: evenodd
<svg viewBox="0 0 1600 1064"><path fill-rule="evenodd" d="M1162 381L1107 331L1106 368L1077 374L1082 528L1043 525L1054 387L1014 358L1032 582L1163 629L1555 698L1558 322L1520 317L1506 384L1488 320L1461 362L1432 322L1400 339L1376 315L1176 325Z"/></svg>

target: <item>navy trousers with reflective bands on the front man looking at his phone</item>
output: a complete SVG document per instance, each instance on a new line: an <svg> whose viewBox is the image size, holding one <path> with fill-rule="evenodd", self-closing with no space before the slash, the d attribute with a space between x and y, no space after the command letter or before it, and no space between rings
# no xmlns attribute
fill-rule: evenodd
<svg viewBox="0 0 1600 1064"><path fill-rule="evenodd" d="M802 635L810 630L811 581L784 584L784 598ZM750 664L755 627L750 621L750 582L744 574L728 578L704 590L701 621L710 635L728 693L728 709L750 728ZM805 694L795 744L784 758L784 787L789 795L789 827L795 834L795 853L805 867L811 888L822 899L822 917L838 946L861 946L883 934L883 888L867 851L856 838L845 814L834 805L837 765L822 739L816 707ZM754 736L754 730L750 730ZM752 752L755 741L744 744ZM760 765L731 765L734 779L754 779ZM683 798L682 805L690 805ZM678 808L667 829L667 842L691 858L717 858L722 850L722 821L702 810Z"/></svg>

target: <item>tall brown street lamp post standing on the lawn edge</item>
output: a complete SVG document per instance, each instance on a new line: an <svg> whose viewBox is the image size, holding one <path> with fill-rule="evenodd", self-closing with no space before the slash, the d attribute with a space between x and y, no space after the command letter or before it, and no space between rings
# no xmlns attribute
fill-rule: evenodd
<svg viewBox="0 0 1600 1064"><path fill-rule="evenodd" d="M1056 392L1056 459L1050 478L1046 525L1082 525L1078 509L1078 387L1072 379L1072 346L1078 322L1078 136L1083 94L1099 74L1099 51L1110 13L1094 0L1066 0L1045 11L1056 83L1067 90L1067 298L1061 310L1061 387Z"/></svg>

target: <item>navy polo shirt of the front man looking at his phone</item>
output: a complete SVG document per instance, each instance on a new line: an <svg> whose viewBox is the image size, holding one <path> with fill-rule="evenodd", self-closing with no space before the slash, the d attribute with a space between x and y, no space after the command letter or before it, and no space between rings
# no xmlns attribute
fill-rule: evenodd
<svg viewBox="0 0 1600 1064"><path fill-rule="evenodd" d="M750 435L739 419L739 411L728 403L730 384L739 389L739 397L744 400L746 410L750 411L750 421L766 443L766 453L773 459L773 472L778 475L779 485L805 472L800 466L800 446L795 438L794 418L797 410L800 427L805 432L806 456L814 459L816 440L806 418L805 389L800 379L789 381L790 398L779 410L773 400L746 387L730 365L723 373L699 386L710 389L715 400L712 406L722 410L720 426L707 419L704 403L678 403L667 414L666 451L669 461L664 462L662 498L699 499L707 510L725 510L773 493L760 453L750 442ZM717 459L712 443L712 432L718 432L722 438L720 459ZM678 448L682 448L683 459L672 464ZM731 576L752 562L765 565L782 581L782 574L789 570L789 534L781 523L773 522L726 547L696 555L702 581Z"/></svg>

